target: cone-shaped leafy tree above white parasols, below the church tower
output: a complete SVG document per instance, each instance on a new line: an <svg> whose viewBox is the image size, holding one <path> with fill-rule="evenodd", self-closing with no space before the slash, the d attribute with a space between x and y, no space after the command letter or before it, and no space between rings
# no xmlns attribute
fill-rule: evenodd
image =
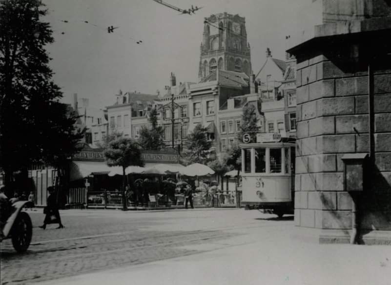
<svg viewBox="0 0 391 285"><path fill-rule="evenodd" d="M190 163L207 163L212 142L206 137L207 129L198 124L192 133L187 135L185 158Z"/></svg>

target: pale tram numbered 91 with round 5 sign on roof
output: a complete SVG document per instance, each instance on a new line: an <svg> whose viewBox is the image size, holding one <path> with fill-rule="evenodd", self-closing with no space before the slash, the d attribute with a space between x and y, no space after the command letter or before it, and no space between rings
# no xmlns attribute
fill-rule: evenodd
<svg viewBox="0 0 391 285"><path fill-rule="evenodd" d="M281 218L294 211L295 139L279 133L245 134L242 151L242 202L245 209L268 209ZM247 143L246 143L247 142Z"/></svg>

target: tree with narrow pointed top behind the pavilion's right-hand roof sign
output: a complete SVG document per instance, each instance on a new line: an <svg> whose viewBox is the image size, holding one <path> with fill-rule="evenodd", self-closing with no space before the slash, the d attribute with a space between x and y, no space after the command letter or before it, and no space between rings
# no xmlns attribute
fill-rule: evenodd
<svg viewBox="0 0 391 285"><path fill-rule="evenodd" d="M151 110L148 119L151 128L143 126L140 130L139 143L145 150L159 151L165 148L164 128L158 126L158 112L156 108Z"/></svg>

